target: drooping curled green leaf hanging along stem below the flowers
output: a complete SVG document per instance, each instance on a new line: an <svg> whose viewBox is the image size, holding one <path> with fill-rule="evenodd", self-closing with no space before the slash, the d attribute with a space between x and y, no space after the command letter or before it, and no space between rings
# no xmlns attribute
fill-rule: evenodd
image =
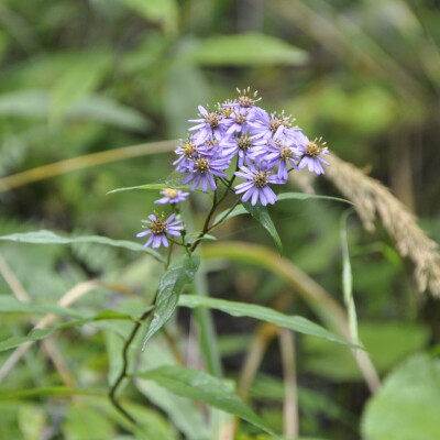
<svg viewBox="0 0 440 440"><path fill-rule="evenodd" d="M146 332L143 348L148 339L172 317L185 285L190 283L200 264L198 255L184 255L173 262L162 275L155 301L154 317Z"/></svg>

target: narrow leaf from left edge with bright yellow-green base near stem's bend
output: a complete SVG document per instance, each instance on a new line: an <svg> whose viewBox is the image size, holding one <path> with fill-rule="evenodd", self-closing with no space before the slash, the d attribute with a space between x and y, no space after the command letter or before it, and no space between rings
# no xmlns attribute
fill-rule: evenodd
<svg viewBox="0 0 440 440"><path fill-rule="evenodd" d="M95 317L78 319L75 321L63 322L57 326L48 327L46 329L34 329L30 333L24 337L12 337L4 341L0 342L0 351L6 351L10 349L14 349L25 342L35 342L41 341L44 338L47 338L52 333L57 330L67 329L70 327L84 326L86 323L92 323L94 321L103 321L103 320L130 320L133 321L133 318L129 315L118 314L114 310L105 310L101 314L96 315Z"/></svg>

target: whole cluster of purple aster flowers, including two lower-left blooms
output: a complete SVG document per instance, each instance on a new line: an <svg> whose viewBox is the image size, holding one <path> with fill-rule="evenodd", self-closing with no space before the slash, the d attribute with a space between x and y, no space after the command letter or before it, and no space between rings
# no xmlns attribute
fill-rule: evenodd
<svg viewBox="0 0 440 440"><path fill-rule="evenodd" d="M188 138L175 151L177 160L173 163L176 172L184 175L184 185L190 190L200 188L204 193L216 191L222 183L228 190L235 177L244 182L233 188L241 201L252 206L274 205L276 194L271 185L287 183L288 173L308 168L309 172L323 174L322 165L329 163L322 157L329 155L321 138L310 141L301 129L294 127L294 119L282 113L267 113L256 106L257 94L250 89L238 90L239 98L217 105L213 110L199 106L198 119L190 119ZM228 169L233 174L228 178ZM166 188L155 204L169 204L178 212L177 204L184 201L189 193ZM168 219L151 215L147 230L138 237L150 235L148 245L168 248L167 235L179 237L184 226L175 220L175 213Z"/></svg>

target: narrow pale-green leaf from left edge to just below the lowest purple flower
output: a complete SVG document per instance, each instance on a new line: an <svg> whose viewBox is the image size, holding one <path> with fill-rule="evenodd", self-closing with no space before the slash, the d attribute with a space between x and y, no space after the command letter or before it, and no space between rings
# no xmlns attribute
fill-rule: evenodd
<svg viewBox="0 0 440 440"><path fill-rule="evenodd" d="M19 243L33 243L33 244L72 244L72 243L97 243L97 244L108 244L110 246L116 248L124 248L131 251L142 251L142 244L135 243L127 240L112 240L107 237L100 235L84 235L84 237L61 237L52 231L35 231L35 232L22 232L14 233L10 235L2 235L0 240L9 240L15 241ZM147 254L154 256L156 260L164 262L164 257L153 251L152 249L146 248L143 250Z"/></svg>

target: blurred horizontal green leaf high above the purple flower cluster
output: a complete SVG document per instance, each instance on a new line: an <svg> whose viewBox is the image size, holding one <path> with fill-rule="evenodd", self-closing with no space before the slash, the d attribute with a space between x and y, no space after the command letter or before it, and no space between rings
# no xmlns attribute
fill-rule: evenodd
<svg viewBox="0 0 440 440"><path fill-rule="evenodd" d="M300 65L307 59L305 51L253 32L211 36L180 56L184 61L211 66Z"/></svg>

